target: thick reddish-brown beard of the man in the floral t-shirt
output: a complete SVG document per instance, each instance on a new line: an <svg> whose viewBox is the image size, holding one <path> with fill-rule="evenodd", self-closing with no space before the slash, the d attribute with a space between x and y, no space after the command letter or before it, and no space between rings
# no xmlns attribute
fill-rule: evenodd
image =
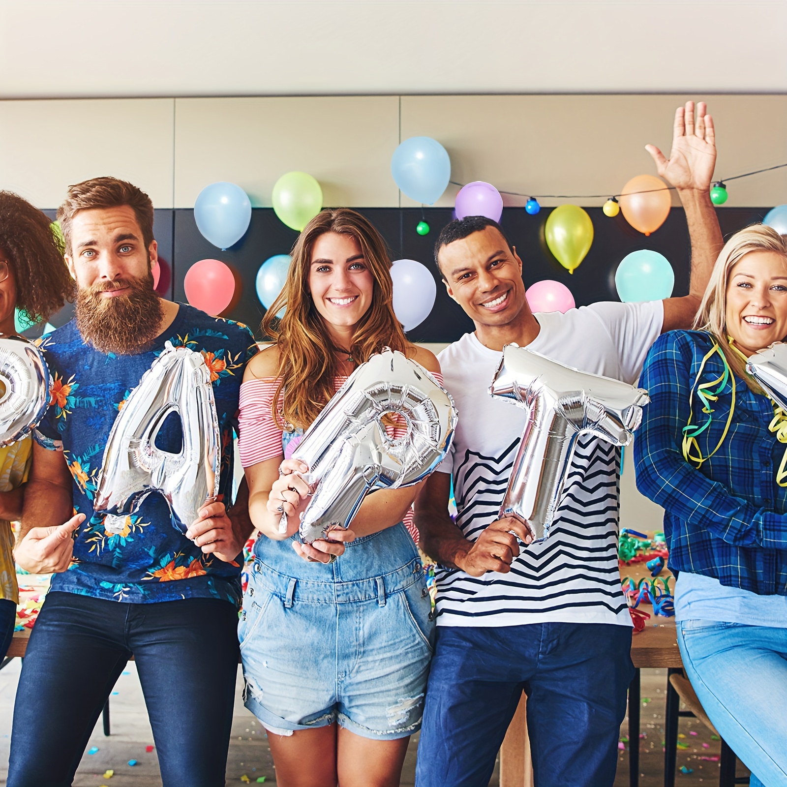
<svg viewBox="0 0 787 787"><path fill-rule="evenodd" d="M126 286L129 289L123 295L102 295ZM79 287L76 293L76 327L83 340L99 353L144 353L161 331L163 316L150 272L139 279L130 276Z"/></svg>

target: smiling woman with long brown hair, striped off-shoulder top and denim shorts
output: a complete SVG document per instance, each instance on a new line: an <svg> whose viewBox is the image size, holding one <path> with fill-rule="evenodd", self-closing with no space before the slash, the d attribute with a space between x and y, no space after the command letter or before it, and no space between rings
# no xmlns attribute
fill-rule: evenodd
<svg viewBox="0 0 787 787"><path fill-rule="evenodd" d="M283 787L398 785L432 649L423 566L403 523L418 487L369 494L352 530L304 545L297 525L309 489L298 473L308 467L289 457L374 353L399 350L440 379L438 361L405 338L385 242L364 216L323 210L292 257L263 321L275 343L249 363L240 395L239 447L260 530L239 629L246 707L268 730Z"/></svg>

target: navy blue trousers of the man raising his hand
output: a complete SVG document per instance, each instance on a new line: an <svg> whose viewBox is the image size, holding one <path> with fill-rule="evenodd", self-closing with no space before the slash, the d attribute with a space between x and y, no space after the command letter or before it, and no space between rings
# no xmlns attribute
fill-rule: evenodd
<svg viewBox="0 0 787 787"><path fill-rule="evenodd" d="M416 787L486 787L523 691L538 787L611 787L630 649L606 623L438 626Z"/></svg>

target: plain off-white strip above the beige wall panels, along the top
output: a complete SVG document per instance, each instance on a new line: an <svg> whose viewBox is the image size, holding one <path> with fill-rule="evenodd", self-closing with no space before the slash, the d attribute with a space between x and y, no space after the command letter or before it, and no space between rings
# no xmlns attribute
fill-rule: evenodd
<svg viewBox="0 0 787 787"><path fill-rule="evenodd" d="M0 98L780 92L783 0L2 0Z"/></svg>

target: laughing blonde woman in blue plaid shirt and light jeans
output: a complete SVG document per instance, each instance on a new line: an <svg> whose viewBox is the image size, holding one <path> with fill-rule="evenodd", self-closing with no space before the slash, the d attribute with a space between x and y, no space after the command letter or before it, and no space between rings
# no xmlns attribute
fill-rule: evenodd
<svg viewBox="0 0 787 787"><path fill-rule="evenodd" d="M787 416L745 371L787 337L787 244L722 249L696 331L653 345L637 486L663 506L686 674L752 785L787 785Z"/></svg>

